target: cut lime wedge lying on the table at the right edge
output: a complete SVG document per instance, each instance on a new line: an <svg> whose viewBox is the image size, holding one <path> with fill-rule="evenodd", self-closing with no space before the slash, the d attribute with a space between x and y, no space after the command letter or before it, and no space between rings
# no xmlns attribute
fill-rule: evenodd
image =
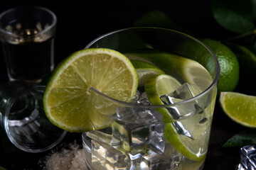
<svg viewBox="0 0 256 170"><path fill-rule="evenodd" d="M240 125L256 128L256 96L221 92L220 106L229 118Z"/></svg>

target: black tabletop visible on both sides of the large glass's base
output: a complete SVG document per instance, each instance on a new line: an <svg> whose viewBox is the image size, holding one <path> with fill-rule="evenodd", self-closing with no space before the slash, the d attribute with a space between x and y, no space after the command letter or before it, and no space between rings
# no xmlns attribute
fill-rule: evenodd
<svg viewBox="0 0 256 170"><path fill-rule="evenodd" d="M217 106L215 108L208 154L203 170L235 169L240 162L240 147L224 148L222 145L228 138L239 132L241 127L235 125L221 111L217 112L218 110ZM81 134L68 132L63 142L60 142L55 148L61 149L63 146L74 142L82 147ZM54 151L56 151L55 148L53 148ZM44 161L46 157L52 154L52 151L49 150L38 154L23 152L16 149L2 133L0 153L0 166L6 169L42 169L39 161Z"/></svg>

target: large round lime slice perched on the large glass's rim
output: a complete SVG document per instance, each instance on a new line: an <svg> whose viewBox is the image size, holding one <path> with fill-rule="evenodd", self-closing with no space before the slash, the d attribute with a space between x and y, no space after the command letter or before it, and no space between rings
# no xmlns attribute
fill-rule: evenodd
<svg viewBox="0 0 256 170"><path fill-rule="evenodd" d="M48 119L70 132L105 128L115 106L90 89L129 102L138 86L132 63L119 52L87 49L74 52L53 72L43 97Z"/></svg>

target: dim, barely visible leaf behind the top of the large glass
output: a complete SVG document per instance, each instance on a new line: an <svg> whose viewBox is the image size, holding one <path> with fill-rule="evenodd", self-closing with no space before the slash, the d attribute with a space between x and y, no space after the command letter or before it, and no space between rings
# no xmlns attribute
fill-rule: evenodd
<svg viewBox="0 0 256 170"><path fill-rule="evenodd" d="M178 30L183 33L188 33L187 30L178 26L174 21L171 20L166 14L162 11L149 11L144 13L143 16L137 19L134 22L136 27L159 27L159 28L168 28L171 30Z"/></svg>

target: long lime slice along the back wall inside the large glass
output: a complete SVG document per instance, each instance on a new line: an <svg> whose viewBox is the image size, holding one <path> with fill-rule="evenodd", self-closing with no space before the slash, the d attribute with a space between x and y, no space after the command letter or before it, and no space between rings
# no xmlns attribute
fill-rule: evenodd
<svg viewBox="0 0 256 170"><path fill-rule="evenodd" d="M157 67L163 69L166 74L178 75L183 81L189 84L195 84L201 92L205 91L213 82L210 73L200 63L186 57L168 54L166 52L146 50L129 53L127 57L141 57L144 60L153 62Z"/></svg>

